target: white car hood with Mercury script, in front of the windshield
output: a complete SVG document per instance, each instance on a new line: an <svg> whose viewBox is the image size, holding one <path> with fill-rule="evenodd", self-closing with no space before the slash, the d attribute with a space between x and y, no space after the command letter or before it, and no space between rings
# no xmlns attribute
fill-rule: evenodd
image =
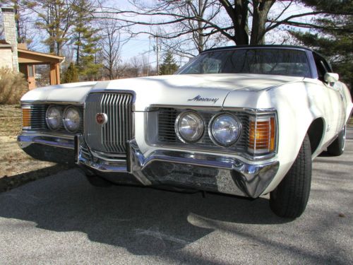
<svg viewBox="0 0 353 265"><path fill-rule="evenodd" d="M89 92L129 90L136 95L136 111L144 111L151 105L222 107L232 91L235 93L233 95L241 91L239 95L253 96L261 90L302 80L303 78L291 76L234 73L150 76L37 88L26 94L22 100L36 98L44 101L84 102Z"/></svg>

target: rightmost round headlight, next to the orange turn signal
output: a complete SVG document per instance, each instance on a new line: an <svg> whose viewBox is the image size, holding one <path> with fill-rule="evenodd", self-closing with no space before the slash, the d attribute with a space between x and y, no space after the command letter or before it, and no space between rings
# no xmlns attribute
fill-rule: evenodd
<svg viewBox="0 0 353 265"><path fill-rule="evenodd" d="M232 146L240 136L241 123L232 114L220 114L210 123L210 136L220 146Z"/></svg>

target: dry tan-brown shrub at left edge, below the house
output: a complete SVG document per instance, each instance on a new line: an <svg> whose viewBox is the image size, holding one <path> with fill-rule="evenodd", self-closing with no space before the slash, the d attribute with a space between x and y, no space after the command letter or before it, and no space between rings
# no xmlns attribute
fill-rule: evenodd
<svg viewBox="0 0 353 265"><path fill-rule="evenodd" d="M0 69L0 104L18 104L28 91L23 73L2 67Z"/></svg>

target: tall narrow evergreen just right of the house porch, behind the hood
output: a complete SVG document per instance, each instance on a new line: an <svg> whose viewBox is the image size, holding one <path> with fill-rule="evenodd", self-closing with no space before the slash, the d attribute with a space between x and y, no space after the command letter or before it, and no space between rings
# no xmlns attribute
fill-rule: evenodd
<svg viewBox="0 0 353 265"><path fill-rule="evenodd" d="M95 79L97 73L102 68L101 64L95 62L95 57L98 49L98 41L100 37L97 36L97 29L92 28L92 12L93 6L90 0L78 0L75 7L76 26L75 45L76 45L76 65L80 77L85 80Z"/></svg>

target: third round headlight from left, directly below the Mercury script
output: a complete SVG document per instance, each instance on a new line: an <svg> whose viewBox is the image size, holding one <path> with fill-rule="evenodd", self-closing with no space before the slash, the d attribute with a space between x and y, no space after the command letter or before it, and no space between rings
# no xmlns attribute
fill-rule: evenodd
<svg viewBox="0 0 353 265"><path fill-rule="evenodd" d="M175 132L184 143L195 143L203 136L203 120L195 112L183 112L175 121Z"/></svg>

